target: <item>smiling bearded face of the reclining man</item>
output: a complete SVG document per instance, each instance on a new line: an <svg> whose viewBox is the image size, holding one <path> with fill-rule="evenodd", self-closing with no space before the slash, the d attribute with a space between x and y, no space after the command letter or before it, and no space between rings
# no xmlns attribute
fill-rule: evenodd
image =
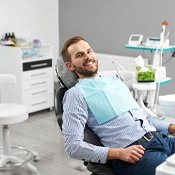
<svg viewBox="0 0 175 175"><path fill-rule="evenodd" d="M79 78L94 77L97 75L98 61L89 44L80 40L68 48L71 55L71 62L66 66L77 73Z"/></svg>

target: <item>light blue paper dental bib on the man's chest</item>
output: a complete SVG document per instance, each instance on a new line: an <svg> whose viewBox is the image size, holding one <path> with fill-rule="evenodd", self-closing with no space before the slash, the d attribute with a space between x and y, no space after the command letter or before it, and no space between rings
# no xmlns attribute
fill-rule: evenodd
<svg viewBox="0 0 175 175"><path fill-rule="evenodd" d="M80 79L76 86L99 125L139 108L127 86L118 78L85 78Z"/></svg>

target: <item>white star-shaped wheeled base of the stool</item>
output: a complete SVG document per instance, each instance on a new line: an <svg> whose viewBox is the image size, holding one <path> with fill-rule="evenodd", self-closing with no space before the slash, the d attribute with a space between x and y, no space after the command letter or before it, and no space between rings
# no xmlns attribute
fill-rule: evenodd
<svg viewBox="0 0 175 175"><path fill-rule="evenodd" d="M0 169L5 170L15 166L20 166L21 168L37 173L38 170L29 161L33 158L34 161L38 161L38 153L31 152L22 147L12 147L12 149L18 150L12 155L0 155ZM23 157L23 158L20 158Z"/></svg>

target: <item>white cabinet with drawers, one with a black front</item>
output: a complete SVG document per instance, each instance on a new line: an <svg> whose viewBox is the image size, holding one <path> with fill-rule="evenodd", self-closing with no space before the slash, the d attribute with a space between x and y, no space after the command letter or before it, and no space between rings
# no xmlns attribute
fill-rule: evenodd
<svg viewBox="0 0 175 175"><path fill-rule="evenodd" d="M29 113L52 108L54 102L53 49L0 46L0 73L16 76L17 84L3 87L2 102L17 102Z"/></svg>

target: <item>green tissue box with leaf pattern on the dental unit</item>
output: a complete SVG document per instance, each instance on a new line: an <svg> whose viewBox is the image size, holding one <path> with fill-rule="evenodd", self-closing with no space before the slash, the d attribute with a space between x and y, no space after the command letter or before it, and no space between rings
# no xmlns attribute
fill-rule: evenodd
<svg viewBox="0 0 175 175"><path fill-rule="evenodd" d="M140 66L136 66L136 77L138 82L154 82L155 80L155 70L152 66L146 66L147 71L142 71Z"/></svg>

